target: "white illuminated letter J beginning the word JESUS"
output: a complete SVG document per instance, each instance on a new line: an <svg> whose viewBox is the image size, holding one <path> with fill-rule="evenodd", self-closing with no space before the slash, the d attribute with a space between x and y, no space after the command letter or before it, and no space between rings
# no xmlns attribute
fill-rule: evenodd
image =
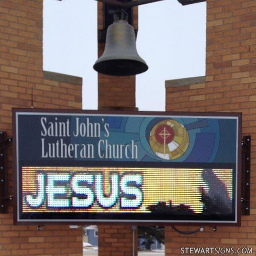
<svg viewBox="0 0 256 256"><path fill-rule="evenodd" d="M44 175L37 175L37 196L34 195L26 195L26 202L31 207L40 207L44 203Z"/></svg>

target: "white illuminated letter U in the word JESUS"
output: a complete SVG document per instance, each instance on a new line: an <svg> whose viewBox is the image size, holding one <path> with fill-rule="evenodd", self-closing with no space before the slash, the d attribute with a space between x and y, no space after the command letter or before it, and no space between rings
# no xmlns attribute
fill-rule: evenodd
<svg viewBox="0 0 256 256"><path fill-rule="evenodd" d="M98 174L95 175L95 189L96 189L96 197L99 205L104 208L112 207L117 200L118 197L118 174L111 175L111 195L110 197L105 197L103 192L103 175Z"/></svg>

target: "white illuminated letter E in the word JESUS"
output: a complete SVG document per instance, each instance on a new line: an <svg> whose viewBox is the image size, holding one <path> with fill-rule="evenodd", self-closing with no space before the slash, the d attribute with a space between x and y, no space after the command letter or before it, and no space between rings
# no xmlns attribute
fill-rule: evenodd
<svg viewBox="0 0 256 256"><path fill-rule="evenodd" d="M47 205L48 207L63 208L70 207L70 199L56 199L55 195L67 194L67 188L64 186L54 186L55 181L68 181L70 175L68 174L49 174L47 176L47 188L48 195Z"/></svg>

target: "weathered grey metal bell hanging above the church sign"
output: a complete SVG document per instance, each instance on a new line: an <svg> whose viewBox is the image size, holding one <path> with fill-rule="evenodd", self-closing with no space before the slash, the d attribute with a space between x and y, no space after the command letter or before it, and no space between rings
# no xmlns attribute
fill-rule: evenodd
<svg viewBox="0 0 256 256"><path fill-rule="evenodd" d="M126 20L115 20L108 26L105 50L93 68L110 76L132 76L148 70L138 55L134 28Z"/></svg>

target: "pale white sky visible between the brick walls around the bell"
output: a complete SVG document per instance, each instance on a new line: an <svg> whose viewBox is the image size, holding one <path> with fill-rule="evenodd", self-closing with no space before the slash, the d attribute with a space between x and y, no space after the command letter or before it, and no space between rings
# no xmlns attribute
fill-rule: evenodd
<svg viewBox="0 0 256 256"><path fill-rule="evenodd" d="M83 109L97 109L97 2L44 0L44 70L83 78ZM136 76L140 111L165 110L165 81L205 75L206 3L165 0L139 6Z"/></svg>

